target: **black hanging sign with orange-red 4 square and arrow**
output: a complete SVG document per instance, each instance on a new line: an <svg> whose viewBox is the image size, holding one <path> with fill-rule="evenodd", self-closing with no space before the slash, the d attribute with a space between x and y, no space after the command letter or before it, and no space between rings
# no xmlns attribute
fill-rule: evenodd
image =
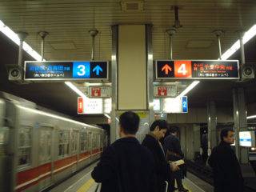
<svg viewBox="0 0 256 192"><path fill-rule="evenodd" d="M156 79L239 79L238 60L156 61Z"/></svg>

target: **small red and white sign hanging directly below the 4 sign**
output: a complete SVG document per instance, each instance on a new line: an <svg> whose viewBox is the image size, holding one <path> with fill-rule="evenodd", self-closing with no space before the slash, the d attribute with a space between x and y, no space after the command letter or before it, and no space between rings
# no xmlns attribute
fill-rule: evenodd
<svg viewBox="0 0 256 192"><path fill-rule="evenodd" d="M177 86L154 86L154 97L170 97L177 96Z"/></svg>

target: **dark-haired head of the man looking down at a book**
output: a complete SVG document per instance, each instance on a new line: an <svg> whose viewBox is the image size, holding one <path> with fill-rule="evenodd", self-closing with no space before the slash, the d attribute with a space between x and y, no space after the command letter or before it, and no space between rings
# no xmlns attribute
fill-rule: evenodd
<svg viewBox="0 0 256 192"><path fill-rule="evenodd" d="M168 129L168 123L165 120L155 120L150 126L150 131L158 140L165 136Z"/></svg>

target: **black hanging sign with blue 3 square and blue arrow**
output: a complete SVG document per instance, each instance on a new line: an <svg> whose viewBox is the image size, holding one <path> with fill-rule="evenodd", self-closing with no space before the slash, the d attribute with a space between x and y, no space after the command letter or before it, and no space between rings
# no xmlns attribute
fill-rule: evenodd
<svg viewBox="0 0 256 192"><path fill-rule="evenodd" d="M108 80L108 62L25 62L25 80Z"/></svg>

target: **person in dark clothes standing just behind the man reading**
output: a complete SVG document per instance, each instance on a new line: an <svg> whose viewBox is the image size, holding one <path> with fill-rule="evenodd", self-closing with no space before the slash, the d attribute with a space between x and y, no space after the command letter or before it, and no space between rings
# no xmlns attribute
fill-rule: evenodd
<svg viewBox="0 0 256 192"><path fill-rule="evenodd" d="M177 127L172 126L170 127L170 135L168 135L164 140L164 146L168 157L167 160L171 162L178 161L179 159L184 158L182 147L177 135ZM186 171L186 165L183 165L181 168L182 169L174 172L174 179L176 179L178 191L188 191L182 185L182 178L184 178L184 171Z"/></svg>

